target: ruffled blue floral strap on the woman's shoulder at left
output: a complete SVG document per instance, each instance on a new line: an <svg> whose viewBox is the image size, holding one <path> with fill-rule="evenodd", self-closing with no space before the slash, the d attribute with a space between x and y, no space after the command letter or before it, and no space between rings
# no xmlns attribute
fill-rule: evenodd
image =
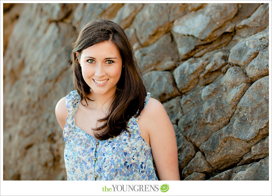
<svg viewBox="0 0 272 196"><path fill-rule="evenodd" d="M68 117L66 118L66 125L63 129L63 139L67 140L71 131L75 128L75 114L78 108L80 96L77 90L71 91L66 96L66 107L68 109Z"/></svg>

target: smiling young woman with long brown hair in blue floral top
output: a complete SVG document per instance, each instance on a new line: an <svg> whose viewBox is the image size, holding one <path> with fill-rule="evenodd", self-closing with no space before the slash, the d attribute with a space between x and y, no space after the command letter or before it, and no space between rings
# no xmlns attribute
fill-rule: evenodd
<svg viewBox="0 0 272 196"><path fill-rule="evenodd" d="M180 180L171 121L146 92L122 28L108 20L88 23L72 62L76 90L55 110L67 179Z"/></svg>

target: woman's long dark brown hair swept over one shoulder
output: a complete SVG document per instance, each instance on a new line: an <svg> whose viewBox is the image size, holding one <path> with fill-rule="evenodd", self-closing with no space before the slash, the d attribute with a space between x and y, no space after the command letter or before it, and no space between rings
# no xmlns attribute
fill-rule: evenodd
<svg viewBox="0 0 272 196"><path fill-rule="evenodd" d="M82 50L106 40L111 40L117 45L123 64L110 112L105 118L99 120L105 121L105 123L94 129L99 131L99 133L95 133L95 137L98 139L108 139L119 135L123 130L128 131L127 123L129 119L134 115L139 116L147 94L130 41L123 29L112 21L96 20L87 23L79 32L72 51L74 87L80 95L81 102L85 100L87 104L87 100L90 100L87 95L91 91L83 79L75 52L79 52L78 57L80 57Z"/></svg>

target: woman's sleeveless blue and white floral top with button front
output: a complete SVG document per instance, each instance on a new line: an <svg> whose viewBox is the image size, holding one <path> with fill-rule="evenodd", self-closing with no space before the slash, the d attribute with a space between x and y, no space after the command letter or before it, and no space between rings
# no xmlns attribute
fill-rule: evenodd
<svg viewBox="0 0 272 196"><path fill-rule="evenodd" d="M150 98L147 93L145 105ZM66 96L68 117L63 130L67 180L158 180L151 147L141 137L137 121L131 117L128 130L106 140L98 140L75 124L80 103L76 90Z"/></svg>

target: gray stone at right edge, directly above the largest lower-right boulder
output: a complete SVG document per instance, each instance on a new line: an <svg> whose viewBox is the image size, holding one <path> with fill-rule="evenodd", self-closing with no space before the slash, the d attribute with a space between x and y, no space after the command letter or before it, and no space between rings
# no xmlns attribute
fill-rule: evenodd
<svg viewBox="0 0 272 196"><path fill-rule="evenodd" d="M269 75L268 47L260 50L258 56L249 63L249 65L245 68L245 71L252 82Z"/></svg>

